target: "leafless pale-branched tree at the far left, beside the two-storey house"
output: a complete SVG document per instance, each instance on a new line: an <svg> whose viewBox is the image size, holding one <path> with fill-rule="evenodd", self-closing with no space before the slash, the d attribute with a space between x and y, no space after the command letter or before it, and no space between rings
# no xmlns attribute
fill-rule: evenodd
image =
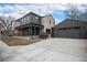
<svg viewBox="0 0 87 65"><path fill-rule="evenodd" d="M13 21L14 19L12 17L0 17L0 28L6 32L7 35L12 30Z"/></svg>

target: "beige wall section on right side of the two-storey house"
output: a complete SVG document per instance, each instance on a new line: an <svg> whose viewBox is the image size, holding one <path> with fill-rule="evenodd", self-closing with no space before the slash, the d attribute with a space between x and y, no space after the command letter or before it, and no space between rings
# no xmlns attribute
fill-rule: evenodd
<svg viewBox="0 0 87 65"><path fill-rule="evenodd" d="M42 18L41 24L44 25L43 32L46 32L46 29L51 30L55 25L55 21L52 15L46 15Z"/></svg>

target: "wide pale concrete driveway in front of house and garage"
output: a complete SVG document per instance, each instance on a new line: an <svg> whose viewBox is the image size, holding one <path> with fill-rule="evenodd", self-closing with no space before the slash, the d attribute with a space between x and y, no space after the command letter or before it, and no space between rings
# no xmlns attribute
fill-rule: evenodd
<svg viewBox="0 0 87 65"><path fill-rule="evenodd" d="M9 46L0 61L87 62L87 40L47 39L31 45Z"/></svg>

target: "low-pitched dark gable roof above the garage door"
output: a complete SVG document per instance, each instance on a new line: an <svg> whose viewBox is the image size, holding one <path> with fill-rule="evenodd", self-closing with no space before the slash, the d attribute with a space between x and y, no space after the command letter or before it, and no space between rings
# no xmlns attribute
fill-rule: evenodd
<svg viewBox="0 0 87 65"><path fill-rule="evenodd" d="M79 20L70 20L66 19L62 21L61 23L56 24L54 28L68 28L68 26L87 26L87 22L85 21L79 21Z"/></svg>

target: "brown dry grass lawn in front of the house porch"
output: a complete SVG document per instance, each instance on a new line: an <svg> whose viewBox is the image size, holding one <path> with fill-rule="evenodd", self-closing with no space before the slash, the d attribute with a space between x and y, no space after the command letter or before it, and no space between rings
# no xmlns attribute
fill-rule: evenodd
<svg viewBox="0 0 87 65"><path fill-rule="evenodd" d="M7 43L9 46L28 45L36 42L35 40L18 39L6 35L0 35L0 40Z"/></svg>

